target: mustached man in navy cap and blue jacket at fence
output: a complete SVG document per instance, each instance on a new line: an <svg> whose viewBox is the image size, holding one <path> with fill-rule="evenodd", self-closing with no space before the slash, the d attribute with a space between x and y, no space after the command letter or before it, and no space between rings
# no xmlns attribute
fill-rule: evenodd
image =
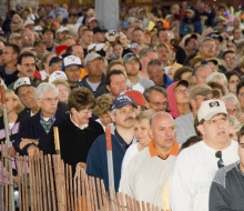
<svg viewBox="0 0 244 211"><path fill-rule="evenodd" d="M118 96L113 100L111 118L115 124L114 134L111 134L113 153L114 188L119 189L121 178L121 164L126 149L134 139L133 120L136 104L125 94ZM109 190L109 172L106 160L105 134L100 135L91 147L87 160L87 173L104 181Z"/></svg>

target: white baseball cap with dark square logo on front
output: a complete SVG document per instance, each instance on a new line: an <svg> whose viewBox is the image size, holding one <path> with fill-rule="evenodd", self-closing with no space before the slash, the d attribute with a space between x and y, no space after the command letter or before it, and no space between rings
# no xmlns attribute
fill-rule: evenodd
<svg viewBox="0 0 244 211"><path fill-rule="evenodd" d="M222 100L206 100L202 102L197 111L197 120L210 120L216 114L227 114L226 107Z"/></svg>

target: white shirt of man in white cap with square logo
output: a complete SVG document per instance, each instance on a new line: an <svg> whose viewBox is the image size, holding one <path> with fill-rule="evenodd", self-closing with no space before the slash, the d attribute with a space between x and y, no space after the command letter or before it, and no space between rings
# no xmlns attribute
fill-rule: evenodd
<svg viewBox="0 0 244 211"><path fill-rule="evenodd" d="M216 150L201 141L184 149L177 155L170 182L171 208L173 211L207 211L209 194L213 178L218 170ZM237 142L222 150L224 164L238 160Z"/></svg>

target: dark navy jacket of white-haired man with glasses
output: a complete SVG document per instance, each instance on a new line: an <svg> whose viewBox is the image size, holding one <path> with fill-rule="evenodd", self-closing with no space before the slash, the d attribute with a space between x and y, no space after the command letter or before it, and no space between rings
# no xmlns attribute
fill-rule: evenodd
<svg viewBox="0 0 244 211"><path fill-rule="evenodd" d="M19 133L17 134L16 141L13 143L13 147L16 151L20 152L21 154L28 154L27 149L31 144L27 144L22 150L20 150L19 145L22 138L27 139L38 139L39 144L38 148L43 152L43 154L53 154L55 153L54 150L54 142L50 141L53 140L53 127L57 125L60 121L67 118L67 114L61 111L60 109L55 112L55 121L51 127L51 130L49 133L47 133L43 129L43 127L40 123L41 117L40 111L34 114L33 117L27 119Z"/></svg>

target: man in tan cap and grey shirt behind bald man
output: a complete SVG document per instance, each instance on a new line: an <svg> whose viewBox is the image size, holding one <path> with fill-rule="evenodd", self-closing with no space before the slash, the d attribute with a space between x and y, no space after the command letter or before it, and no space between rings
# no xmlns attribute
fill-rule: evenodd
<svg viewBox="0 0 244 211"><path fill-rule="evenodd" d="M190 137L196 135L194 129L194 118L202 102L213 99L216 92L205 83L192 88L189 98L192 112L175 119L176 140L180 144L184 143Z"/></svg>

